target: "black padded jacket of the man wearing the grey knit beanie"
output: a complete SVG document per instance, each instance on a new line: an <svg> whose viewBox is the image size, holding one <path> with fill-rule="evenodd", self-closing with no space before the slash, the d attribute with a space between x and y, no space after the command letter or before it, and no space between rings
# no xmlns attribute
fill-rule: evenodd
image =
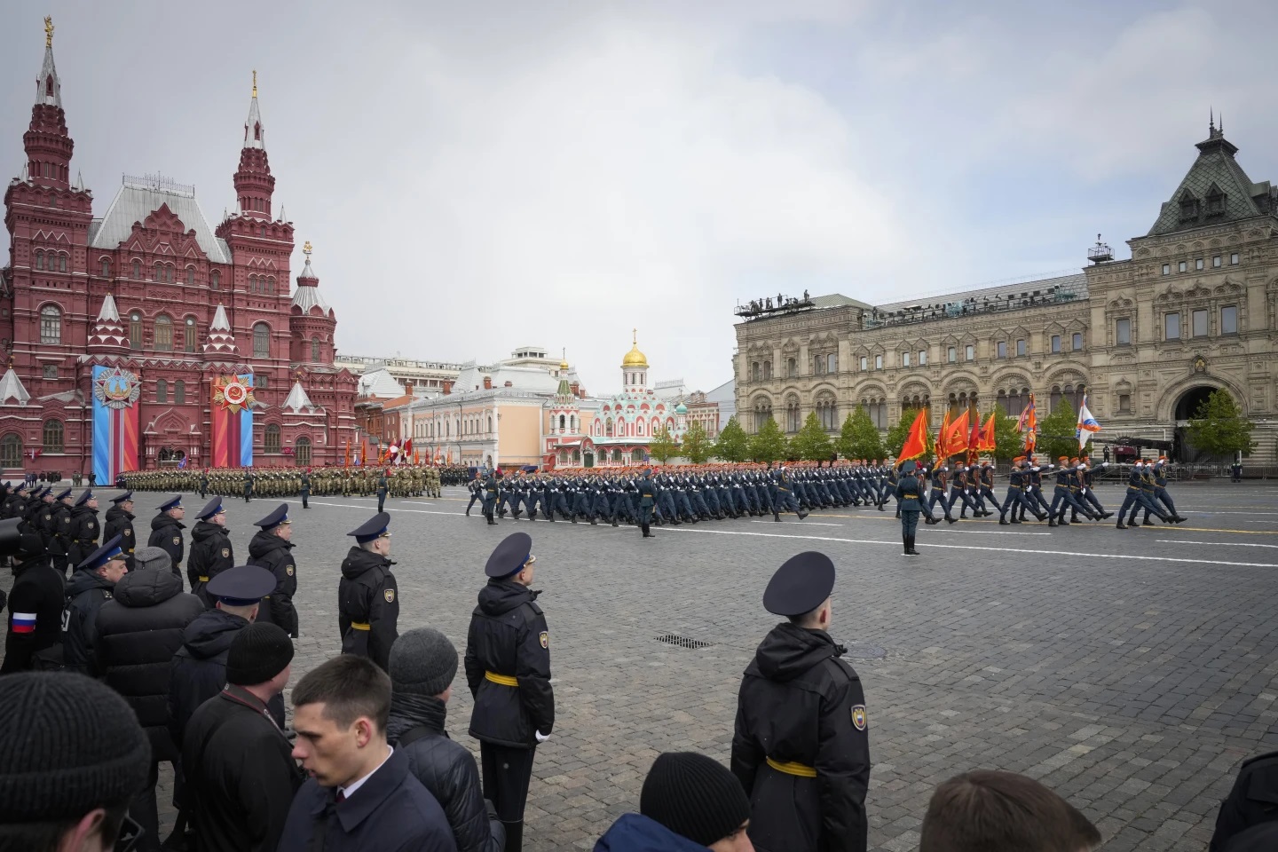
<svg viewBox="0 0 1278 852"><path fill-rule="evenodd" d="M449 738L443 729L446 714L447 706L437 697L395 694L386 738L408 755L409 770L440 802L458 852L501 852L501 838L489 829L475 759ZM401 737L419 728L423 736L399 746Z"/></svg>

